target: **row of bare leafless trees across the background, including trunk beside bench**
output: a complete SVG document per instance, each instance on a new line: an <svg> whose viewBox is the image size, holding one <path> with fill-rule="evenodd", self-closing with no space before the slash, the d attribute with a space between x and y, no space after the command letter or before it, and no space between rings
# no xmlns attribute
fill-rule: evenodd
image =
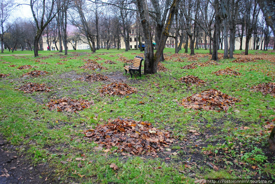
<svg viewBox="0 0 275 184"><path fill-rule="evenodd" d="M253 50L267 50L275 29L275 3L267 0L30 0L27 5L31 20L9 21L22 5L1 0L2 53L4 46L12 51L21 47L33 49L36 57L43 49L42 36L49 48L55 45L65 55L67 44L76 50L79 43L96 52L102 45L119 49L124 42L128 51L134 34L136 49L145 42L145 74L156 73L167 40L175 41L175 53L184 45L184 52L190 49L193 55L203 45L209 47L213 60L218 60L219 48L228 59L233 58L234 49L244 49L247 55L251 38ZM70 25L77 29L68 32ZM236 39L240 48L235 48Z"/></svg>

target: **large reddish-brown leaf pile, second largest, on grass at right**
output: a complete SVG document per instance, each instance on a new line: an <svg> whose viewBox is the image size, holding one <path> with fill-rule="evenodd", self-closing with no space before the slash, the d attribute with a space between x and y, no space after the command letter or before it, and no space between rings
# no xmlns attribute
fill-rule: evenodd
<svg viewBox="0 0 275 184"><path fill-rule="evenodd" d="M193 94L182 100L181 105L185 108L203 109L203 110L224 110L227 111L229 106L239 101L219 90L204 90L200 94Z"/></svg>

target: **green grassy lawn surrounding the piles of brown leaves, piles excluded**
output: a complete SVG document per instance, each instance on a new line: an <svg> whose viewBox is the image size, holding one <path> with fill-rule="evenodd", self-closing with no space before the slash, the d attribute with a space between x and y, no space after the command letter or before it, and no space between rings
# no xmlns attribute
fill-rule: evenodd
<svg viewBox="0 0 275 184"><path fill-rule="evenodd" d="M16 55L33 54L31 51L5 51L4 55L9 56L0 54L0 73L9 74L0 78L0 135L19 153L26 154L31 164L46 163L49 166L48 179L52 182L193 183L201 178L275 179L275 154L269 150L270 131L265 127L266 122L275 118L274 94L263 95L251 90L258 84L275 82L274 52L249 50L250 55L268 56L271 61L234 63L234 59L227 59L218 61L219 65L198 66L196 69L181 67L208 61L207 55L200 57L199 61L188 61L183 57L184 62L175 62L174 58L163 62L168 68L166 72L141 77L134 75L131 79L129 73L123 75L123 62L117 61L119 56L116 54L133 59L133 53L140 52L123 51L101 49L92 54L90 50L76 50L69 51L67 58L60 58L58 51L39 51L38 58ZM195 50L201 54L208 52ZM76 53L79 54L75 56ZM171 56L174 49L166 48L164 53ZM241 51L234 53L240 55ZM135 87L137 92L102 97L99 90L110 81L91 83L78 80L95 72L80 68L85 63L83 59L96 59L95 56L103 58L97 63L108 68L96 73L112 78L116 83ZM35 62L37 60L40 62ZM106 60L116 64L105 64ZM48 64L39 64L42 62ZM56 65L58 62L65 64ZM22 65L37 68L17 69ZM226 67L241 75L212 74ZM21 77L34 69L48 73ZM115 75L108 75L109 72ZM187 75L197 76L205 83L190 86L178 81ZM51 91L24 93L16 90L29 82L45 83ZM220 90L240 101L227 111L187 109L180 105L183 98L207 89ZM93 100L94 105L78 113L58 112L45 105L51 99L64 97ZM170 131L175 140L169 149L158 152L156 156L127 156L94 149L98 145L88 140L83 132L116 118L147 121L160 130ZM197 134L190 130L196 130ZM112 163L118 169L111 168ZM209 163L218 170L215 171Z"/></svg>

